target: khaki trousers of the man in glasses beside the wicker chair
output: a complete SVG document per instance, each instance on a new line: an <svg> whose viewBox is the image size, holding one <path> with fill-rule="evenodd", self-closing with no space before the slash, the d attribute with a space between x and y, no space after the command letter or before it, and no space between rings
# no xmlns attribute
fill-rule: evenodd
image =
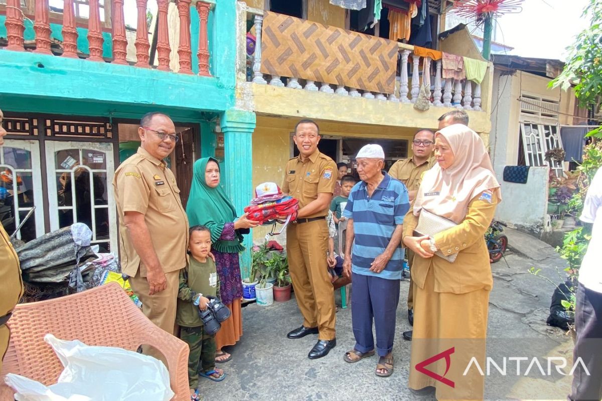
<svg viewBox="0 0 602 401"><path fill-rule="evenodd" d="M149 283L146 277L141 277L140 269L134 277L129 278L129 284L132 290L142 302L142 313L148 317L151 322L159 328L173 335L176 325L176 304L178 301L180 271L169 272L165 274L167 288L160 293L149 295ZM166 362L163 354L151 346L144 346L143 351L146 355L151 355L158 360Z"/></svg>

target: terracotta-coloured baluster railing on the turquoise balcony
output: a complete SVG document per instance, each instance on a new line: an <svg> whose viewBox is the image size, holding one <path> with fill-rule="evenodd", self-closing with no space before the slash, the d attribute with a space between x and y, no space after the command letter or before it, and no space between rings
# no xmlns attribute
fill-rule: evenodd
<svg viewBox="0 0 602 401"><path fill-rule="evenodd" d="M64 4L63 10L60 10L61 13L57 13L56 10L51 9L48 0L35 0L33 15L28 15L31 11L28 12L26 7L22 7L20 0L6 0L6 5L0 7L0 24L4 20L7 32L8 44L5 50L13 52L33 51L39 54L54 54L58 57L86 58L89 61L108 62L111 64L130 64L126 60L128 38L126 37L126 25L123 17L123 1L105 0L105 3L101 6L99 0L89 0L89 15L82 24L81 18L76 19L73 0L63 0ZM157 0L157 37L154 40L156 41L156 46L154 47L158 60L158 65L156 66L153 65L153 61L150 60L151 57L149 55L151 43L149 43L147 28L147 2L148 0L136 0L137 28L134 43L136 54L134 66L170 71L170 54L172 51L177 51L179 57L178 73L192 75L191 40L198 40L197 57L199 61L199 75L211 76L211 73L209 73L207 22L209 12L214 7L215 1L175 1L178 10L179 28L173 28L173 31L178 32L179 44L178 49L171 49L169 44L170 26L167 17L170 0ZM192 16L199 19L198 38L191 38L190 34L191 5L195 6L198 12L198 16ZM2 8L4 8L5 13L2 13ZM105 12L107 8L110 10L110 23L107 24L106 21L101 21L101 8ZM2 18L2 14L5 14L4 18ZM31 39L25 36L26 23L31 25L32 22L33 30L35 31L34 45L31 46L31 44L27 43L28 46L25 46L28 39ZM107 25L110 28L107 28ZM84 30L82 31L82 29ZM78 38L78 36L82 32L85 32L85 29L87 29L87 36L84 43L87 46L83 46L84 49L82 49L82 38ZM105 43L107 40L111 43ZM53 44L52 48L51 44ZM106 57L107 44L111 48L112 57ZM82 54L84 51L87 54Z"/></svg>

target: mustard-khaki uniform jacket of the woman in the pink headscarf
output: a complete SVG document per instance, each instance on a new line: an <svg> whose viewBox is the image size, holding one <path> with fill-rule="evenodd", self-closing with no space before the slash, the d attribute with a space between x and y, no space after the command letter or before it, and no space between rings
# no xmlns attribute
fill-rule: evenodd
<svg viewBox="0 0 602 401"><path fill-rule="evenodd" d="M456 227L435 234L437 248L445 255L458 253L454 263L433 256L424 259L415 255L412 260L412 281L424 288L426 275L433 269L435 292L464 294L476 290L491 290L493 277L489 264L489 251L485 243L485 231L494 218L497 207L495 193L489 199L477 195L468 204L464 220ZM403 236L414 236L420 216L409 210L403 221Z"/></svg>

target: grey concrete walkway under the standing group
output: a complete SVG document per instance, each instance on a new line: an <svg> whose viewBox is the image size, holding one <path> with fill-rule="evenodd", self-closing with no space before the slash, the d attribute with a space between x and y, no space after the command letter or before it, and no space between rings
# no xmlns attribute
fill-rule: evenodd
<svg viewBox="0 0 602 401"><path fill-rule="evenodd" d="M512 231L507 234L510 246L516 249L522 246L520 252L532 253L533 259L510 252L506 255L509 266L504 259L492 265L494 289L489 304L488 357L496 361L501 357L532 354L571 358L571 339L562 330L545 324L554 287L527 272L536 266L542 269L542 274L560 283L557 269L562 272L564 261L539 240L533 239L536 242L531 251L525 246L531 237L525 239ZM405 298L408 281L403 281L401 287L393 376L374 375L376 357L355 364L343 361L344 352L355 344L350 308L339 308L337 313L337 347L327 357L309 360L307 354L316 336L299 340L286 337L288 331L302 322L293 298L269 307L252 304L243 309L244 335L236 346L228 348L232 360L218 365L227 377L219 383L200 378L203 396L206 400L432 400L414 396L407 389L411 343L403 340L402 332L411 329ZM514 376L486 379L485 395L487 399L566 399L569 388L569 376L538 379Z"/></svg>

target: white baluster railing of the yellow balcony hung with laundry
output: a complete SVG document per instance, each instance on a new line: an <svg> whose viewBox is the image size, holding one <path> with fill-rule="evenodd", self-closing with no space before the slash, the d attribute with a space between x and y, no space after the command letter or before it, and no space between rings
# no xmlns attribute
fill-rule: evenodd
<svg viewBox="0 0 602 401"><path fill-rule="evenodd" d="M483 111L484 99L481 85L468 79L443 79L442 61L433 61L430 57L420 57L414 54L414 46L399 43L399 72L396 85L391 93L375 93L343 84L329 84L327 82L305 81L300 77L282 77L267 75L261 72L261 36L264 11L256 8L246 8L247 21L255 27L256 46L251 56L250 72L247 72L247 81L260 85L274 87L287 87L306 91L320 91L335 93L340 96L364 97L367 99L385 100L386 102L415 103L420 93L420 88L430 88L430 103L435 107L448 107ZM292 41L292 39L291 39ZM422 62L422 63L421 63ZM431 69L432 63L435 67ZM489 72L491 73L491 67ZM434 75L431 71L434 70ZM429 73L423 73L423 71ZM426 84L426 85L425 85ZM485 96L487 96L485 94ZM488 104L488 103L485 103Z"/></svg>

